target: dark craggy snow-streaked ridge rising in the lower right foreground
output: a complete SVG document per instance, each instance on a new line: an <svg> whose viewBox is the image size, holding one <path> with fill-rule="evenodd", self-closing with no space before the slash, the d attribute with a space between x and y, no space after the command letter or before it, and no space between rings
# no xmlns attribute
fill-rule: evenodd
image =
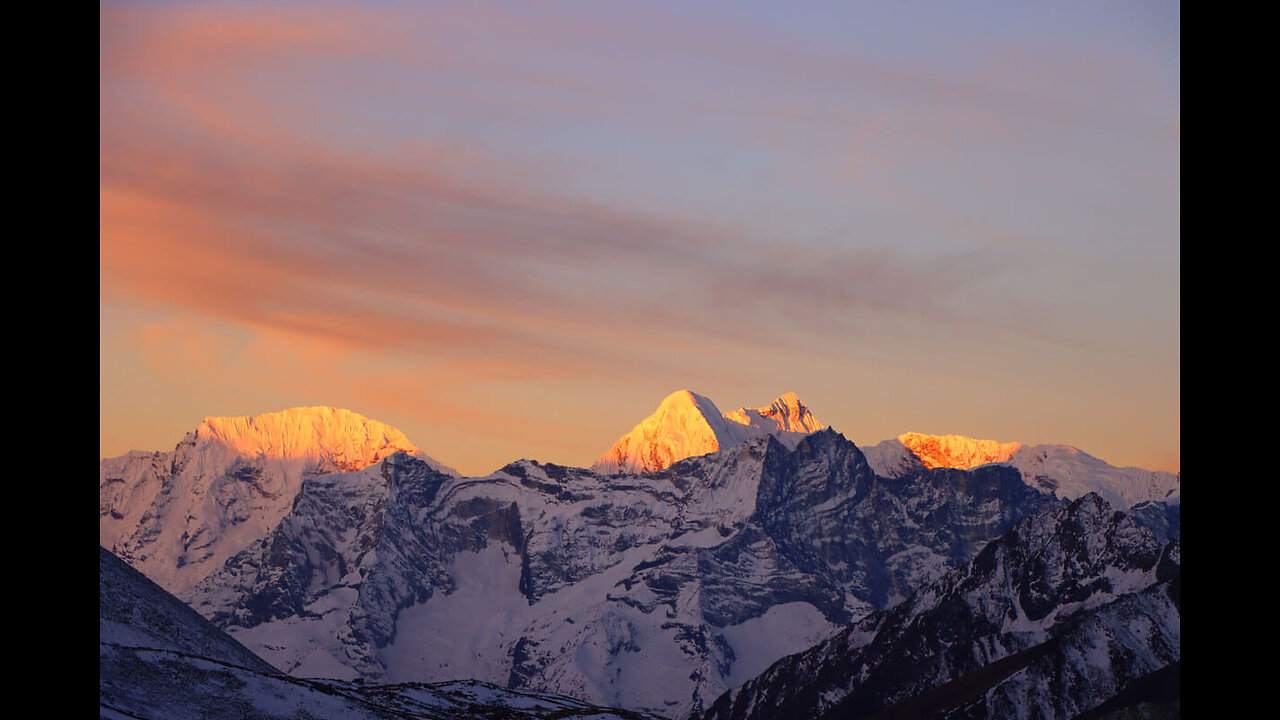
<svg viewBox="0 0 1280 720"><path fill-rule="evenodd" d="M1180 547L1096 493L1046 507L698 716L1075 717L1180 661Z"/></svg>

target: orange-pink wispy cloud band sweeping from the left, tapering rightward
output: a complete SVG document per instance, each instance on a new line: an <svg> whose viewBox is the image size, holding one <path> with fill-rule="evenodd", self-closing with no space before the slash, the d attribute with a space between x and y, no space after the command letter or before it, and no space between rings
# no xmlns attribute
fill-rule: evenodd
<svg viewBox="0 0 1280 720"><path fill-rule="evenodd" d="M467 147L387 156L310 142L221 92L243 87L229 73L385 51L385 26L294 13L113 28L104 74L178 115L105 102L105 297L364 348L585 370L623 361L637 340L748 340L758 309L796 331L858 310L943 319L946 295L973 277L883 250L806 256L727 238L548 190Z"/></svg>

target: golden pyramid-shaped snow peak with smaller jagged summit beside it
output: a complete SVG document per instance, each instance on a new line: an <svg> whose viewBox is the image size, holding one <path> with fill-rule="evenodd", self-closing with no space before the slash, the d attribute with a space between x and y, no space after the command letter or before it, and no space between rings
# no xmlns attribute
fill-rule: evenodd
<svg viewBox="0 0 1280 720"><path fill-rule="evenodd" d="M687 389L668 395L658 409L591 465L598 473L648 473L686 457L718 452L742 441L772 434L787 447L824 425L796 393L767 407L721 413L709 398Z"/></svg>

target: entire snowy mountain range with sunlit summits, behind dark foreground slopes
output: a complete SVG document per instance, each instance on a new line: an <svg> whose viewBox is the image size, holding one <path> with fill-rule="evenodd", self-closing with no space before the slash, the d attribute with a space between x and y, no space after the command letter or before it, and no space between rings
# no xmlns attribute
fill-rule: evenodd
<svg viewBox="0 0 1280 720"><path fill-rule="evenodd" d="M591 468L465 478L393 428L315 407L210 418L100 473L102 547L289 676L475 680L664 717L739 707L760 673L850 628L887 633L887 612L1085 498L1180 542L1176 474L957 436L859 448L794 393L732 413L672 393ZM1132 574L1119 557L1100 577ZM997 662L992 637L1009 653L1047 642L964 642Z"/></svg>

